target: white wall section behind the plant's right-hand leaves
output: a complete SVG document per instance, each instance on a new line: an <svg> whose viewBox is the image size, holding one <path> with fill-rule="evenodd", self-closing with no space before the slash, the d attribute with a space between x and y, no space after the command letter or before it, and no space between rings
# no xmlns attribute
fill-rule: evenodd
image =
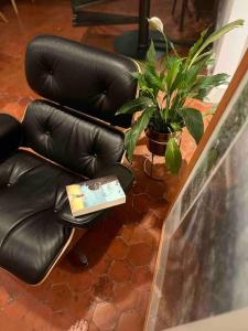
<svg viewBox="0 0 248 331"><path fill-rule="evenodd" d="M226 73L231 78L248 47L248 0L222 0L217 28L238 19L244 19L245 25L230 31L214 45L216 63L213 74ZM218 103L226 87L225 85L214 88L208 99L212 103Z"/></svg>

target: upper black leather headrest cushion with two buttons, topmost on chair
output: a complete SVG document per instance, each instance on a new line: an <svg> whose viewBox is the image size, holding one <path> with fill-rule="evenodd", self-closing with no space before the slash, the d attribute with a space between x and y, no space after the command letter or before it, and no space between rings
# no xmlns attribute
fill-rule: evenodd
<svg viewBox="0 0 248 331"><path fill-rule="evenodd" d="M54 35L36 36L26 49L26 79L37 94L121 127L131 115L115 113L136 97L134 71L130 58Z"/></svg>

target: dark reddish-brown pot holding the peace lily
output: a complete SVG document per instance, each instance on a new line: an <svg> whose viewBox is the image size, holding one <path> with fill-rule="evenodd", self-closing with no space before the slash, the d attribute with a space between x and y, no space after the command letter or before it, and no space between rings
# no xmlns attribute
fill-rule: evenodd
<svg viewBox="0 0 248 331"><path fill-rule="evenodd" d="M180 142L181 135L181 131L173 134L158 132L149 126L145 130L148 150L154 156L164 157L168 140L174 137Z"/></svg>

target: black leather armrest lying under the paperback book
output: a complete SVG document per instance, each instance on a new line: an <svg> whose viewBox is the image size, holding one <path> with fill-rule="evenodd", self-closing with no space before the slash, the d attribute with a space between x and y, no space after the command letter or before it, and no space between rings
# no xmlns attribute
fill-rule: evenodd
<svg viewBox="0 0 248 331"><path fill-rule="evenodd" d="M133 182L133 173L127 167L116 163L109 168L99 171L95 178L116 175L127 194ZM105 216L109 209L100 210L90 214L86 214L78 217L73 217L66 192L63 193L63 203L60 202L57 209L57 215L61 223L78 228L87 228L94 225L100 217Z"/></svg>

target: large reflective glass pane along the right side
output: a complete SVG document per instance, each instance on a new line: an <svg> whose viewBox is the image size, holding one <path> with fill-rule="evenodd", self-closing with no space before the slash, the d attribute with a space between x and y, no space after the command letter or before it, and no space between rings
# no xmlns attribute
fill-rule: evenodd
<svg viewBox="0 0 248 331"><path fill-rule="evenodd" d="M163 228L147 331L248 306L248 74Z"/></svg>

